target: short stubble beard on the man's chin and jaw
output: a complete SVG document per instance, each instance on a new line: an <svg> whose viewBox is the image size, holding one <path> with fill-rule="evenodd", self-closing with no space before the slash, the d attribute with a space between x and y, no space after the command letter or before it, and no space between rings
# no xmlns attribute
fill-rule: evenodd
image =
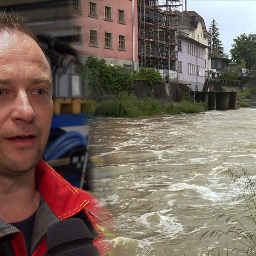
<svg viewBox="0 0 256 256"><path fill-rule="evenodd" d="M18 156L18 158L16 158L15 156L10 157L8 154L6 154L6 152L4 152L3 148L0 146L0 176L18 177L35 168L37 163L40 161L46 146L46 142L43 142L43 143L41 142L43 131L41 129L37 129L37 130L38 130L38 133L37 133L38 143L35 149L27 149L22 147L15 149L15 152L17 152L17 155L19 154L19 152L22 155L24 155L23 160L19 160L20 156ZM27 154L24 153L26 151L27 151ZM27 159L25 159L26 156L27 156Z"/></svg>

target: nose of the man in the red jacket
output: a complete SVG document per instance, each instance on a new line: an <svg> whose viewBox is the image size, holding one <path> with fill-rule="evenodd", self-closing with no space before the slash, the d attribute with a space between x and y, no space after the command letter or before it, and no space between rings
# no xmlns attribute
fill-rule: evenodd
<svg viewBox="0 0 256 256"><path fill-rule="evenodd" d="M32 122L35 118L35 112L30 105L26 91L19 91L14 101L14 111L12 111L12 120L22 120Z"/></svg>

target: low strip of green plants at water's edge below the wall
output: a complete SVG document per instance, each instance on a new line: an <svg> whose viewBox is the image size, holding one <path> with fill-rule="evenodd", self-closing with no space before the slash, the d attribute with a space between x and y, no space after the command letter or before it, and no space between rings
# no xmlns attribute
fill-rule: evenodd
<svg viewBox="0 0 256 256"><path fill-rule="evenodd" d="M162 102L154 98L138 99L134 95L119 94L97 103L97 116L139 117L162 114L200 113L206 111L203 102Z"/></svg>

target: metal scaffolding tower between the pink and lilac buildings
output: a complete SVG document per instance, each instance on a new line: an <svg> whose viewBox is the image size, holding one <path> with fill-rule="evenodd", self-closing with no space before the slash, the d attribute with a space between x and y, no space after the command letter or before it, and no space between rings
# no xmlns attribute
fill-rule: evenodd
<svg viewBox="0 0 256 256"><path fill-rule="evenodd" d="M183 0L138 0L139 66L177 71Z"/></svg>

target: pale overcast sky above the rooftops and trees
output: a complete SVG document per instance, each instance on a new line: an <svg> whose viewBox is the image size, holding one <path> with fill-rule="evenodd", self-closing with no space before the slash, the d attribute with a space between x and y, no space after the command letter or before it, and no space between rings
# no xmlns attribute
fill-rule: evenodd
<svg viewBox="0 0 256 256"><path fill-rule="evenodd" d="M183 4L185 5L185 1ZM242 33L256 34L254 0L187 0L187 11L196 11L200 14L204 18L207 30L215 18L219 25L219 39L226 53L229 53L233 38Z"/></svg>

